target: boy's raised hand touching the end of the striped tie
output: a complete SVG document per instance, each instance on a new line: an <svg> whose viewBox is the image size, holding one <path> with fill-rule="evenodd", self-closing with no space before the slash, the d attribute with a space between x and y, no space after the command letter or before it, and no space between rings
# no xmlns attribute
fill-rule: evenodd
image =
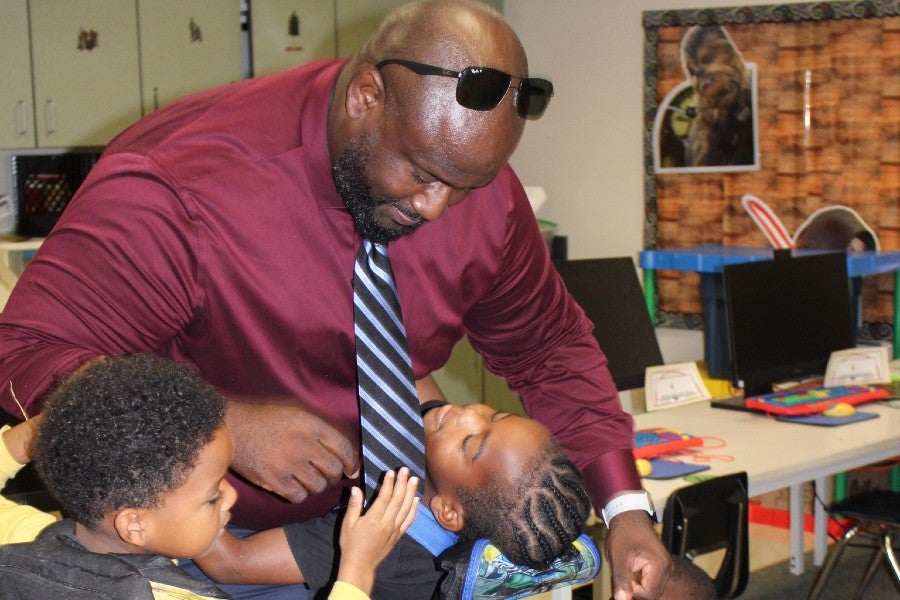
<svg viewBox="0 0 900 600"><path fill-rule="evenodd" d="M366 514L362 513L363 494L354 487L347 514L341 524L341 564L337 578L372 593L375 567L384 560L416 516L418 477L409 477L409 469L395 476L388 471Z"/></svg>

